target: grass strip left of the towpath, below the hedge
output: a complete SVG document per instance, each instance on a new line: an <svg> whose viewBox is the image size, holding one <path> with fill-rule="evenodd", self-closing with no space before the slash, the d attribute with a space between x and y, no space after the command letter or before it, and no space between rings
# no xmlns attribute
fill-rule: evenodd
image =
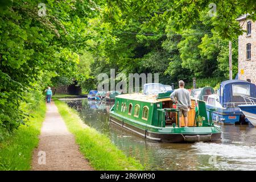
<svg viewBox="0 0 256 182"><path fill-rule="evenodd" d="M40 105L33 110L32 117L26 123L19 126L11 137L0 142L0 170L29 170L33 150L38 146L38 135L46 114L46 104L40 101Z"/></svg>

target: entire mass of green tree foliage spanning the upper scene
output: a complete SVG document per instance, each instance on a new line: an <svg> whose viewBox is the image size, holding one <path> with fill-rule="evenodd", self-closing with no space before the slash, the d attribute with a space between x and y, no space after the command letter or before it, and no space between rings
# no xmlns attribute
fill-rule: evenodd
<svg viewBox="0 0 256 182"><path fill-rule="evenodd" d="M31 90L78 81L97 88L97 75L159 73L159 81L228 78L228 40L237 73L236 18L255 3L242 1L5 1L0 4L0 130L26 122L20 104ZM217 6L210 16L209 3ZM211 85L214 85L212 83ZM27 101L33 102L33 101Z"/></svg>

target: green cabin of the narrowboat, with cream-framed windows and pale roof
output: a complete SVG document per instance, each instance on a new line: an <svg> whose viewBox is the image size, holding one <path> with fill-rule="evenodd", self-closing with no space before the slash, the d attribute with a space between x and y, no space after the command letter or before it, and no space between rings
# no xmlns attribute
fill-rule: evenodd
<svg viewBox="0 0 256 182"><path fill-rule="evenodd" d="M168 94L168 96L167 96ZM147 125L157 127L174 127L178 125L176 105L171 101L170 92L166 94L123 94L115 97L114 111L126 118L135 119ZM196 115L201 115L208 123L205 102L191 99L192 108L188 111L188 126L196 126ZM196 111L197 104L199 111ZM200 109L201 107L201 109ZM184 117L181 118L181 127L185 126Z"/></svg>

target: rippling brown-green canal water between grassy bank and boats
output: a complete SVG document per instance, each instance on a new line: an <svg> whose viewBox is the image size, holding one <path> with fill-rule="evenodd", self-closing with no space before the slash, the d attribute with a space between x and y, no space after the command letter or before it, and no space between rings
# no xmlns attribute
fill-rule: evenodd
<svg viewBox="0 0 256 182"><path fill-rule="evenodd" d="M211 143L155 143L109 125L113 104L64 100L86 123L108 135L127 156L148 170L256 170L256 127L222 125L222 140Z"/></svg>

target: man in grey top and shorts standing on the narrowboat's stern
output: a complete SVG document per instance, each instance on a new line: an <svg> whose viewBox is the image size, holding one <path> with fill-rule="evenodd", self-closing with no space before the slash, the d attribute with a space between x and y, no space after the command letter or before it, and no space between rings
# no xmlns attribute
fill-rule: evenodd
<svg viewBox="0 0 256 182"><path fill-rule="evenodd" d="M185 120L185 127L188 127L188 108L191 109L191 100L189 92L184 88L184 81L179 81L179 89L174 90L171 94L171 100L179 110L179 127L181 127L181 117L183 115Z"/></svg>

